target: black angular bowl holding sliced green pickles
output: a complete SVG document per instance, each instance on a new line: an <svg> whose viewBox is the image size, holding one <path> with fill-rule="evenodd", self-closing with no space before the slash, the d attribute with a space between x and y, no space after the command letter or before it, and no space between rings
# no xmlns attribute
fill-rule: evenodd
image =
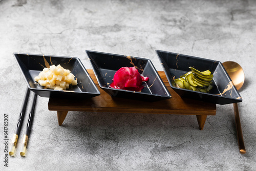
<svg viewBox="0 0 256 171"><path fill-rule="evenodd" d="M194 56L187 56L172 52L156 50L158 58L162 64L170 87L181 97L202 100L216 104L229 104L241 102L242 97L224 69L222 63L216 60L209 60ZM174 79L191 71L193 67L199 71L210 70L213 73L214 88L209 93L196 92L187 89L181 89L173 86Z"/></svg>

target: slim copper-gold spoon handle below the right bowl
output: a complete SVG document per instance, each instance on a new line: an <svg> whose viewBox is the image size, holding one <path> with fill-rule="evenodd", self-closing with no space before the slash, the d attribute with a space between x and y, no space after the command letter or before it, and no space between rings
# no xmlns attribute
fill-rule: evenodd
<svg viewBox="0 0 256 171"><path fill-rule="evenodd" d="M234 119L236 120L237 125L237 134L238 134L238 145L239 145L239 152L241 154L245 154L245 146L244 146L244 138L243 138L243 132L240 122L240 116L238 111L238 103L233 103L234 106Z"/></svg>

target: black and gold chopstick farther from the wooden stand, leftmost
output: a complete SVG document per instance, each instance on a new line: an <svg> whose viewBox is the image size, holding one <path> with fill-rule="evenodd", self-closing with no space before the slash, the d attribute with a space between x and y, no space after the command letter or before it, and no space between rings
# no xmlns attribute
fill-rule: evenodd
<svg viewBox="0 0 256 171"><path fill-rule="evenodd" d="M25 93L25 96L24 96L24 99L23 99L23 103L22 103L22 108L20 109L18 122L16 124L16 129L14 131L11 146L10 146L10 151L9 151L10 156L13 156L14 152L15 152L16 143L17 143L17 140L18 140L19 132L20 132L20 127L22 127L23 118L24 118L24 115L25 115L26 107L27 107L29 93L30 93L30 90L27 87L26 93Z"/></svg>

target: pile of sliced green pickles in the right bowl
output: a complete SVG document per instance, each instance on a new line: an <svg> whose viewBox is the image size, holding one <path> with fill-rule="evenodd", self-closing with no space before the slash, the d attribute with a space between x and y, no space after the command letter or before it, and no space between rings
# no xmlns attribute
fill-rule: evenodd
<svg viewBox="0 0 256 171"><path fill-rule="evenodd" d="M189 69L191 71L174 80L173 86L203 93L207 93L213 88L213 75L209 70L200 72L193 67L189 67Z"/></svg>

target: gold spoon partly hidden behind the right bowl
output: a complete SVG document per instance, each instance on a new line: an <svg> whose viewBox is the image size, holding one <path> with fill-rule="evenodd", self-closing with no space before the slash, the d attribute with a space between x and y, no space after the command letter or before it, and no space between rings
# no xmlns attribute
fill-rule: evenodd
<svg viewBox="0 0 256 171"><path fill-rule="evenodd" d="M236 86L237 90L240 90L245 80L244 71L242 67L237 62L233 62L233 61L223 62L222 65L226 69L234 86ZM236 126L237 126L239 152L241 154L245 154L246 151L244 146L244 138L242 133L240 116L238 111L238 103L233 103L233 106L234 106L234 119L236 120Z"/></svg>

